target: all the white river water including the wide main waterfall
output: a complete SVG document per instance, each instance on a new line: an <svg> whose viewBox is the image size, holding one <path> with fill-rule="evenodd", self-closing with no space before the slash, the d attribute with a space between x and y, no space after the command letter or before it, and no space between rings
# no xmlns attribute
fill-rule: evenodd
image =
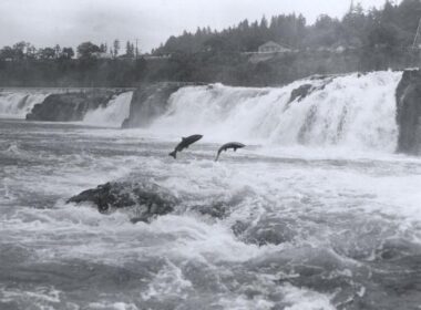
<svg viewBox="0 0 421 310"><path fill-rule="evenodd" d="M142 130L0 120L0 309L419 309L421 159L393 153L399 78L183 87ZM247 147L215 163L232 138ZM132 224L65 204L110 180L156 184L174 211Z"/></svg>

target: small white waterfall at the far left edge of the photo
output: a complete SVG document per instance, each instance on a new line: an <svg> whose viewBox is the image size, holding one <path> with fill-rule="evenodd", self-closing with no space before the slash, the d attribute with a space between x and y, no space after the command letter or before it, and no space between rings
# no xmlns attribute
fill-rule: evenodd
<svg viewBox="0 0 421 310"><path fill-rule="evenodd" d="M42 103L48 92L6 91L0 92L0 117L24 118L37 103Z"/></svg>

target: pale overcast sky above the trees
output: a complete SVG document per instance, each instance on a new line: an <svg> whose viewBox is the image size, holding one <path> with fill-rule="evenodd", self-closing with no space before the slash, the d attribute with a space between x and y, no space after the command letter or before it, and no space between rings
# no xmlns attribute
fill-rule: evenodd
<svg viewBox="0 0 421 310"><path fill-rule="evenodd" d="M184 29L223 29L281 13L342 17L351 0L0 0L0 46L29 41L35 46L76 46L138 39L147 52ZM357 2L357 1L355 1ZM362 0L364 9L384 0Z"/></svg>

